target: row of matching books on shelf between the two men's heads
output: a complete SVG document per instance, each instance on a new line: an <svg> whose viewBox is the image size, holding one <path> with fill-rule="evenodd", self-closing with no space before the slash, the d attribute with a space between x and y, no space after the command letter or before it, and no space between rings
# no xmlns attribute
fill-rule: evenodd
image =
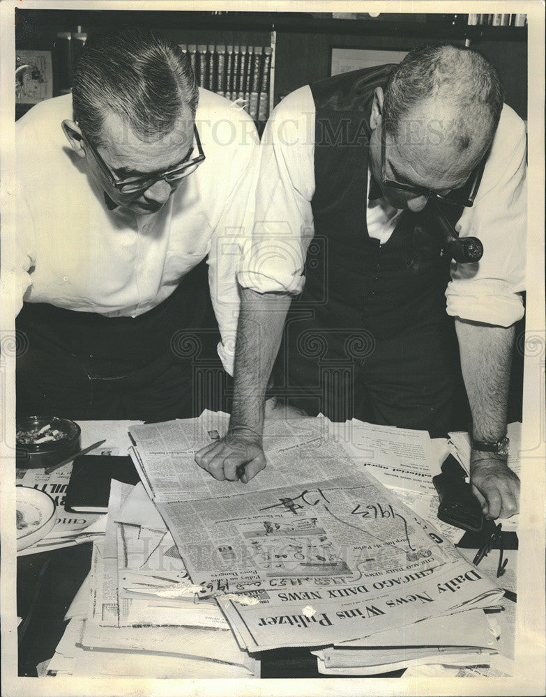
<svg viewBox="0 0 546 697"><path fill-rule="evenodd" d="M271 46L180 46L190 57L200 86L229 100L241 100L255 121L267 120Z"/></svg>

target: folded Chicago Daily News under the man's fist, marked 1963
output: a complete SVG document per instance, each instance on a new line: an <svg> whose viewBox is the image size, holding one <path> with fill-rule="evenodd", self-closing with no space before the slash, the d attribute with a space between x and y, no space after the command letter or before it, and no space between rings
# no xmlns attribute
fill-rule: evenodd
<svg viewBox="0 0 546 697"><path fill-rule="evenodd" d="M330 645L502 597L370 474L372 464L407 469L417 436L405 434L395 456L363 458L324 418L275 421L266 469L242 484L194 461L227 424L204 412L137 426L130 453L192 583L216 594L241 648Z"/></svg>

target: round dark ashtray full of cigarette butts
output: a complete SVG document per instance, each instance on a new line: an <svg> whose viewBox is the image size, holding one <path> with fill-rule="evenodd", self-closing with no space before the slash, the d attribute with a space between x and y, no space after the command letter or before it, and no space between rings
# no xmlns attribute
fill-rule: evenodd
<svg viewBox="0 0 546 697"><path fill-rule="evenodd" d="M24 416L15 422L15 464L22 469L50 467L81 450L78 424L58 416Z"/></svg>

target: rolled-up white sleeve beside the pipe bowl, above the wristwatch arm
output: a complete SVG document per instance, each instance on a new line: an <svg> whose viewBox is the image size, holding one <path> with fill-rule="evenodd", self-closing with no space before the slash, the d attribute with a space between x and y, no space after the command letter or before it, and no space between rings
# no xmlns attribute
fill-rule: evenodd
<svg viewBox="0 0 546 697"><path fill-rule="evenodd" d="M508 327L522 318L525 289L527 190L524 123L504 105L478 196L455 225L460 237L478 237L477 263L452 263L447 312Z"/></svg>

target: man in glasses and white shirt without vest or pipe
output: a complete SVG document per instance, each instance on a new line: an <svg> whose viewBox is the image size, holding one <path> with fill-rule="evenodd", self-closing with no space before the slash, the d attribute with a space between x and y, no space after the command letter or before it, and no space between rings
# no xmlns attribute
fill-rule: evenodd
<svg viewBox="0 0 546 697"><path fill-rule="evenodd" d="M219 327L232 372L257 147L248 114L199 89L170 40L124 28L88 41L72 94L17 123L18 414L218 408L192 363L221 372Z"/></svg>

